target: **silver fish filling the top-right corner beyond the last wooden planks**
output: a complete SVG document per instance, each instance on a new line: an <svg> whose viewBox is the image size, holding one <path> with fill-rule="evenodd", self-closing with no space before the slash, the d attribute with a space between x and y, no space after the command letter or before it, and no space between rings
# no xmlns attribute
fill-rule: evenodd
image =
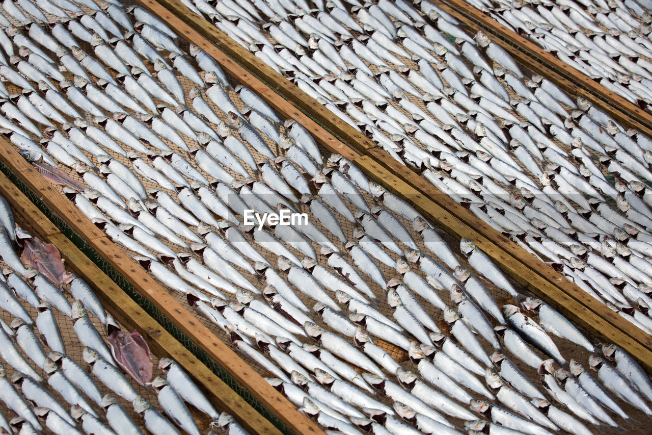
<svg viewBox="0 0 652 435"><path fill-rule="evenodd" d="M649 4L635 1L471 1L560 61L650 110L652 41ZM527 3L527 4L526 4Z"/></svg>

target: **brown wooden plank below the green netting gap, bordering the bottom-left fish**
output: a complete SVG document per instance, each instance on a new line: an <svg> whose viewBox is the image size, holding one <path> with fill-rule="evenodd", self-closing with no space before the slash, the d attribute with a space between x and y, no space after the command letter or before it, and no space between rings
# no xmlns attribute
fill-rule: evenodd
<svg viewBox="0 0 652 435"><path fill-rule="evenodd" d="M74 246L2 172L0 172L0 195L11 204L14 216L19 223L23 219L37 231L38 234L34 235L38 235L59 249L61 257L66 262L66 268L72 270L93 287L108 313L113 315L123 327L129 330L138 330L143 337L146 337L149 347L159 358L175 359L194 378L194 381L203 389L218 410L233 415L251 433L280 434L278 429L267 419L237 395L222 379L213 374L132 298L128 297L95 263Z"/></svg>

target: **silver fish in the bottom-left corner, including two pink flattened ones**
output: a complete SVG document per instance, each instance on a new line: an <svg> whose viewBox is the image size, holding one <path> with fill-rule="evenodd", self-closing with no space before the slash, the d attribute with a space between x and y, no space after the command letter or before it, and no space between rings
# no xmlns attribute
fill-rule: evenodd
<svg viewBox="0 0 652 435"><path fill-rule="evenodd" d="M220 415L172 359L161 359L158 364L167 374L166 379L157 377L150 383L153 368L145 340L138 332L123 334L91 287L82 278L65 271L56 248L32 238L20 227L14 228L7 201L0 197L0 203L1 257L7 265L0 282L0 308L14 317L9 325L0 321L0 357L13 369L10 376L0 364L0 400L7 410L16 414L8 418L9 415L0 413L3 433L49 430L54 434L142 434L131 413L115 396L132 402L134 413L141 416L143 426L152 434L180 434L175 425L190 434L200 434L185 403L205 412L215 427L227 428L230 433L246 433L233 417L226 413ZM22 246L20 257L9 234L14 234ZM25 269L21 261L30 267ZM62 283L68 286L70 295L64 293ZM70 297L74 302L69 302ZM36 312L37 317L33 318L27 308ZM106 325L106 342L89 313ZM61 324L63 321L67 324ZM66 343L61 329L70 326L78 341ZM88 371L67 355L66 347L71 344L83 347ZM120 368L136 383L151 385L160 408L139 395ZM100 385L111 393L102 395ZM67 403L60 402L53 393Z"/></svg>

